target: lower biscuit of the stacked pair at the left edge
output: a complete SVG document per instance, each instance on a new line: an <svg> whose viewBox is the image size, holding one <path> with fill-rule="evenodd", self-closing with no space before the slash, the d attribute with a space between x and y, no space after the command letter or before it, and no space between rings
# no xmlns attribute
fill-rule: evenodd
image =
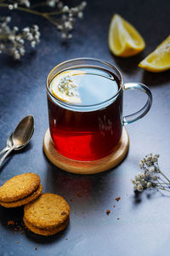
<svg viewBox="0 0 170 256"><path fill-rule="evenodd" d="M6 207L6 208L21 207L21 206L24 206L24 205L28 204L29 202L37 199L37 197L39 195L41 195L41 193L42 193L42 184L40 184L31 195L28 195L28 196L24 197L23 199L20 199L18 201L14 201L14 202L0 201L0 205L2 205L3 207Z"/></svg>

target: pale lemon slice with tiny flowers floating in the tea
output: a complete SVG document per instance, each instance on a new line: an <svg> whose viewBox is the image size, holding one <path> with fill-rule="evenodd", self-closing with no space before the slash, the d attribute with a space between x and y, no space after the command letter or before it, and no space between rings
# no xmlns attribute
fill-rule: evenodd
<svg viewBox="0 0 170 256"><path fill-rule="evenodd" d="M78 84L73 79L74 75L82 74L80 71L65 71L58 74L51 83L51 91L54 96L63 102L81 103L78 92Z"/></svg>

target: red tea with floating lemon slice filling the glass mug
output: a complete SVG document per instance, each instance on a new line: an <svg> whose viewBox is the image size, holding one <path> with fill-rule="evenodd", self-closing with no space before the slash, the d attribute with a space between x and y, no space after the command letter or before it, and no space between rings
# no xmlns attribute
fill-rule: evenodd
<svg viewBox="0 0 170 256"><path fill-rule="evenodd" d="M60 154L74 160L111 154L122 136L120 86L114 73L99 67L70 68L51 80L49 129Z"/></svg>

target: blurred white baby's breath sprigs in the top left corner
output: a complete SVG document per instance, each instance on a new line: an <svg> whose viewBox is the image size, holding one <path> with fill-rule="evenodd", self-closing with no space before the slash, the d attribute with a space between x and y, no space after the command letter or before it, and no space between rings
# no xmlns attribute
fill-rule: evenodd
<svg viewBox="0 0 170 256"><path fill-rule="evenodd" d="M69 7L60 0L46 0L41 3L33 4L30 0L0 0L0 8L14 9L31 15L39 15L47 19L56 26L61 33L61 38L71 39L72 29L78 19L82 19L83 10L87 3L82 1L76 7ZM43 8L45 12L39 11L39 7ZM54 9L53 11L51 9ZM48 12L47 12L48 10ZM25 41L30 41L31 47L35 47L40 42L40 32L37 25L26 27L19 33L19 27L14 26L10 28L8 22L11 17L0 16L0 53L6 53L19 60L21 55L25 54Z"/></svg>

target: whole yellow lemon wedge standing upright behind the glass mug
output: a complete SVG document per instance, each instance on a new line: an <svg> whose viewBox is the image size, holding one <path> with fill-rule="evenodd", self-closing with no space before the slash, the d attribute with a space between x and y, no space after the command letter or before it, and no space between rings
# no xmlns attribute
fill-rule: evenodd
<svg viewBox="0 0 170 256"><path fill-rule="evenodd" d="M114 55L137 55L145 47L139 32L120 15L114 15L109 27L109 48Z"/></svg>

